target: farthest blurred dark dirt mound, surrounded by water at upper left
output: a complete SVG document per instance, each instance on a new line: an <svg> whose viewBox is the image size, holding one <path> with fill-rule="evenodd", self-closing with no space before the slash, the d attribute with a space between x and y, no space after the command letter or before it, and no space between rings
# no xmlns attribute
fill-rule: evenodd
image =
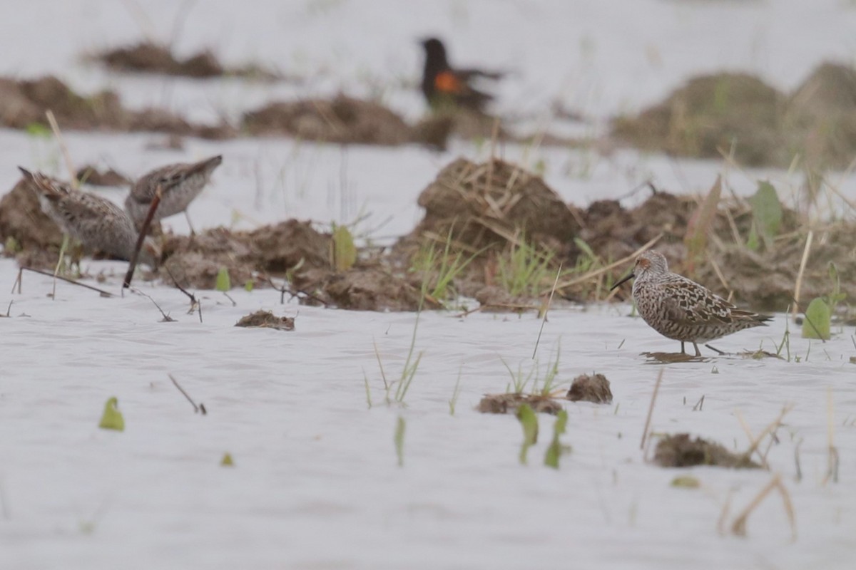
<svg viewBox="0 0 856 570"><path fill-rule="evenodd" d="M92 59L104 63L116 71L132 73L161 73L164 75L182 75L193 78L245 77L253 79L276 79L277 73L260 66L247 65L227 68L217 60L210 50L200 51L186 59L175 57L169 47L144 41L105 50L92 56Z"/></svg>

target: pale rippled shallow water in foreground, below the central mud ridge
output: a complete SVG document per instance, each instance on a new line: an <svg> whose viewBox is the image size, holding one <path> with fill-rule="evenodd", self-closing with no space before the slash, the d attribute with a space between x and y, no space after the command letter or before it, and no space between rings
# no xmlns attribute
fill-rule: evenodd
<svg viewBox="0 0 856 570"><path fill-rule="evenodd" d="M14 273L10 261L0 264L0 274ZM119 283L104 286L118 291ZM847 335L811 346L794 335L799 363L704 350L704 361L645 366L643 352L679 345L629 318L626 306L559 307L533 362L534 314L424 313L415 344L424 356L401 407L383 403L374 346L395 379L415 314L280 306L275 291L263 290L235 291L232 307L210 292L200 323L185 314L181 293L146 286L178 320L163 323L139 295L101 298L60 284L51 300L50 291L50 278L25 273L23 294L9 297L12 318L0 323L0 414L11 436L0 444L3 543L15 567L91 567L128 556L177 566L226 567L249 556L262 567L517 567L523 552L535 566L573 559L686 567L699 549L707 567L804 567L821 552L832 563L853 549L856 497L847 481L856 467L856 385L847 357L856 350ZM255 309L296 314L296 331L233 326ZM776 315L771 326L717 348L775 350L785 320ZM521 467L514 417L473 408L482 394L506 389L505 364L525 373L538 367L543 378L556 350L562 383L604 373L614 401L565 403L562 441L573 452L558 471L541 465L552 424L542 416L542 441ZM645 462L639 441L661 369L653 432L691 432L745 450L739 415L757 434L794 404L769 461L794 502L795 543L775 496L752 515L748 539L716 531L728 497L730 521L771 473ZM193 414L168 373L207 415ZM829 389L841 480L823 485ZM110 396L119 399L125 432L97 427ZM393 445L399 415L407 420L403 468ZM233 468L218 465L226 451ZM669 487L687 472L701 489Z"/></svg>

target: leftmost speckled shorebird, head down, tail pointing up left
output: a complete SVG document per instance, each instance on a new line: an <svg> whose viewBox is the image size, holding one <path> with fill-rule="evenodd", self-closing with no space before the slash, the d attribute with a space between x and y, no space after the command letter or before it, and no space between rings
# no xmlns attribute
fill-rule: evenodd
<svg viewBox="0 0 856 570"><path fill-rule="evenodd" d="M134 222L119 206L96 194L75 190L70 185L42 173L18 167L39 197L42 211L87 250L103 251L129 260L139 233ZM160 252L151 238L140 250L140 261L157 267Z"/></svg>

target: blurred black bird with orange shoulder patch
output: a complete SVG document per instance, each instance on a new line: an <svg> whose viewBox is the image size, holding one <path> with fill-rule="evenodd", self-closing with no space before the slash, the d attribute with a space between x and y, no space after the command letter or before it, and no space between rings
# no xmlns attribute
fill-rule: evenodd
<svg viewBox="0 0 856 570"><path fill-rule="evenodd" d="M470 85L471 79L484 77L500 79L504 73L482 69L453 69L446 59L446 47L437 38L422 41L425 48L425 70L422 73L422 93L431 109L471 109L484 111L493 96Z"/></svg>

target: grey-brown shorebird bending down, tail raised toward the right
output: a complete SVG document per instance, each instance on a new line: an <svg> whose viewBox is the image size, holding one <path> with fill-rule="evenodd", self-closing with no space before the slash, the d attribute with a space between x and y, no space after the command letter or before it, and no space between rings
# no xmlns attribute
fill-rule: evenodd
<svg viewBox="0 0 856 570"><path fill-rule="evenodd" d="M137 227L142 226L160 186L161 201L152 221L158 221L179 212L184 212L187 216L187 206L193 202L193 198L199 196L199 192L211 179L211 173L222 162L223 156L217 155L191 164L169 164L143 174L131 187L131 192L125 199L125 209L128 210L134 224ZM189 217L187 217L187 225L193 232Z"/></svg>

